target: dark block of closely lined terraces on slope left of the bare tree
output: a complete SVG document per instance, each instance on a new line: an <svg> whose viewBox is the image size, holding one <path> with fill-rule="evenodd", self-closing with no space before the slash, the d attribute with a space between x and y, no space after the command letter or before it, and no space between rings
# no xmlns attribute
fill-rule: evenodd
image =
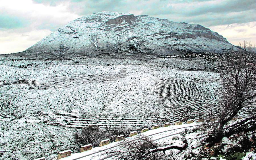
<svg viewBox="0 0 256 160"><path fill-rule="evenodd" d="M171 120L187 121L202 118L205 105L212 104L196 80L166 78L156 82L157 92Z"/></svg>

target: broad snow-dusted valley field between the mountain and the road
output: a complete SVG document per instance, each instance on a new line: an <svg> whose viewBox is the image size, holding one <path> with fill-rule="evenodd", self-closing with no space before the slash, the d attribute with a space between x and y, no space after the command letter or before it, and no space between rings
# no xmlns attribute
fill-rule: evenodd
<svg viewBox="0 0 256 160"><path fill-rule="evenodd" d="M216 65L156 57L1 57L1 101L10 103L1 107L0 148L13 151L1 152L0 159L49 158L59 151L76 151L72 134L88 125L141 129L202 118L205 104L216 103L213 92L219 76L208 71ZM56 139L46 141L50 138Z"/></svg>

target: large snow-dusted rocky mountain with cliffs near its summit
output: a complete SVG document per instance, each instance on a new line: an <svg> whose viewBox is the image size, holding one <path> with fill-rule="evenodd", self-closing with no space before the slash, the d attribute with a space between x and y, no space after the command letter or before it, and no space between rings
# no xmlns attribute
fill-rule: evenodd
<svg viewBox="0 0 256 160"><path fill-rule="evenodd" d="M223 53L236 49L226 38L199 24L98 12L69 22L23 53L57 57L114 53L172 55L188 50Z"/></svg>

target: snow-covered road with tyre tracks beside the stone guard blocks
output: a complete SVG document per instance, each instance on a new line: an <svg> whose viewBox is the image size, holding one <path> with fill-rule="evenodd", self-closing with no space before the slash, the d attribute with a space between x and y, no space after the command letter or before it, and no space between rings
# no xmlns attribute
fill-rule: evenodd
<svg viewBox="0 0 256 160"><path fill-rule="evenodd" d="M169 127L160 127L158 129L149 130L144 133L140 133L136 136L127 137L125 140L127 141L135 141L140 139L142 136L151 137L154 141L166 141L168 137L177 135L181 133L185 128L195 127L201 125L201 123L190 123L190 124L182 124L182 125L171 125ZM99 160L99 159L107 159L109 155L104 154L106 151L111 152L116 150L123 143L122 141L112 142L106 146L95 147L89 151L85 151L82 153L74 153L69 157L61 158L62 160L77 160L77 159L90 159L90 160Z"/></svg>

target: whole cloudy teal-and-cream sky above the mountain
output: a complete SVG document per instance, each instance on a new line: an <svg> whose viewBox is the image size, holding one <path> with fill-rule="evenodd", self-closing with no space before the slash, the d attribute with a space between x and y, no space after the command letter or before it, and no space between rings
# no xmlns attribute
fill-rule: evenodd
<svg viewBox="0 0 256 160"><path fill-rule="evenodd" d="M201 24L238 45L256 44L255 0L0 0L0 54L26 50L84 15L101 11Z"/></svg>

